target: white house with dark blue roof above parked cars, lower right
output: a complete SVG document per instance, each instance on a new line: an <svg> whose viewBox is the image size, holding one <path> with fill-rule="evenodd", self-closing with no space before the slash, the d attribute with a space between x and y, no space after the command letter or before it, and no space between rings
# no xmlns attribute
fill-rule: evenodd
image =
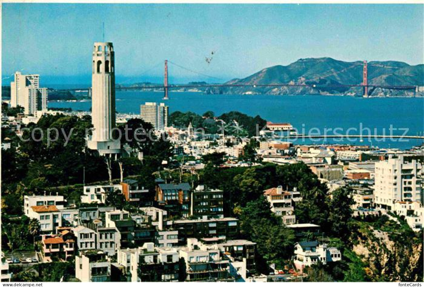
<svg viewBox="0 0 424 287"><path fill-rule="evenodd" d="M318 244L318 241L303 241L294 246L294 264L297 269L303 270L318 262L324 265L327 262L340 261L341 252L335 247L327 247L326 244Z"/></svg>

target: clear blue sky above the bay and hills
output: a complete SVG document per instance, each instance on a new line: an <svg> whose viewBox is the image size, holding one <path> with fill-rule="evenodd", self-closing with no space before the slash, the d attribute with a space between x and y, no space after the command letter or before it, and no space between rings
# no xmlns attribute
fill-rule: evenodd
<svg viewBox="0 0 424 287"><path fill-rule="evenodd" d="M42 84L90 83L103 22L117 83L160 82L165 59L221 81L299 58L416 65L423 63L423 7L5 3L3 85L17 70L40 74ZM170 65L171 83L188 80L218 81Z"/></svg>

